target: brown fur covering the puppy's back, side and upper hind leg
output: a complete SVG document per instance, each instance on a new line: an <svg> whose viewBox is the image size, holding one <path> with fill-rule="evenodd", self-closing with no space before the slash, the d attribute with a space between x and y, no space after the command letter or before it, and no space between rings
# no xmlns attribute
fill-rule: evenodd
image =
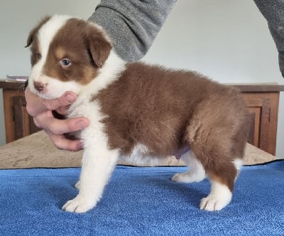
<svg viewBox="0 0 284 236"><path fill-rule="evenodd" d="M239 91L190 71L129 63L98 100L109 146L131 153L144 144L155 156L175 154L185 145L210 178L233 190L244 155L248 111Z"/></svg>

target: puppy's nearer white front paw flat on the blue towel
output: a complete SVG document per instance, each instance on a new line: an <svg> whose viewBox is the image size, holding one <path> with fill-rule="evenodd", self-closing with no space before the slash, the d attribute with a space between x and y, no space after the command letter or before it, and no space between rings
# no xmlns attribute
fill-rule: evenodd
<svg viewBox="0 0 284 236"><path fill-rule="evenodd" d="M87 198L82 198L77 195L76 198L68 200L65 205L62 206L62 210L68 211L70 213L85 213L91 210L96 205L96 201Z"/></svg>

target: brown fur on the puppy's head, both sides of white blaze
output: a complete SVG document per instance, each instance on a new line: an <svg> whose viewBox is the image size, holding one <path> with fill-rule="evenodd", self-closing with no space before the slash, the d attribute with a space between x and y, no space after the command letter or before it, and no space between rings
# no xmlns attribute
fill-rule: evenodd
<svg viewBox="0 0 284 236"><path fill-rule="evenodd" d="M37 33L49 18L44 18L28 36L27 47L32 44L31 65L37 63L40 55ZM101 68L107 60L111 48L111 43L106 40L102 30L86 24L84 20L70 18L53 38L43 74L58 80L75 80L87 85L97 76L98 68ZM70 60L72 67L62 67L60 64L62 59Z"/></svg>

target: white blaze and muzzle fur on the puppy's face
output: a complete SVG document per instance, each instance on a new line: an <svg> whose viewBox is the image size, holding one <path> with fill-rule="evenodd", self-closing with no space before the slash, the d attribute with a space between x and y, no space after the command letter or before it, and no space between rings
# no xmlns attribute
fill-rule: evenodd
<svg viewBox="0 0 284 236"><path fill-rule="evenodd" d="M62 28L70 18L70 16L53 16L38 31L38 48L41 58L33 65L31 75L28 78L28 86L31 92L40 97L53 99L60 97L66 91L79 93L81 90L82 85L78 85L77 82L62 82L43 73L50 43L53 41L58 31L60 31L60 28ZM38 92L38 90L35 89L33 86L34 82L40 82L45 85L42 92Z"/></svg>

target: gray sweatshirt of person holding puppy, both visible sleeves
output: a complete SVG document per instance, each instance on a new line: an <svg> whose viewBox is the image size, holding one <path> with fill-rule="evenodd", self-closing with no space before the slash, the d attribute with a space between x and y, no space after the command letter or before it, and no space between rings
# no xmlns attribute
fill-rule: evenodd
<svg viewBox="0 0 284 236"><path fill-rule="evenodd" d="M284 77L284 0L254 0L268 21ZM102 26L126 61L143 58L176 0L102 0L89 21Z"/></svg>

